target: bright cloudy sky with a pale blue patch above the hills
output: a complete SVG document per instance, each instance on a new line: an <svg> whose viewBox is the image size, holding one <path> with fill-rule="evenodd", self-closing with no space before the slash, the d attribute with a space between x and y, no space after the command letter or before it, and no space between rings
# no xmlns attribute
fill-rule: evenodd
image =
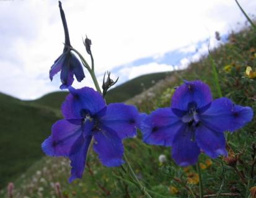
<svg viewBox="0 0 256 198"><path fill-rule="evenodd" d="M256 1L240 0L256 13ZM63 0L71 45L90 63L82 38L92 40L95 72L118 84L152 72L184 69L245 25L234 0ZM218 31L222 42L214 39ZM33 100L60 90L49 70L63 51L58 1L0 0L0 92ZM94 87L86 79L74 87ZM76 80L75 80L76 81Z"/></svg>

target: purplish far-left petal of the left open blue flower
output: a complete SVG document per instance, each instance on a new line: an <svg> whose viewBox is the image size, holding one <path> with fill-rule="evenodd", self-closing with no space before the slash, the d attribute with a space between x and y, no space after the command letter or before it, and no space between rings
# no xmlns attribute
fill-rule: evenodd
<svg viewBox="0 0 256 198"><path fill-rule="evenodd" d="M79 136L81 136L81 126L71 124L65 119L61 119L53 124L51 136L42 144L43 152L50 156L68 156L71 147Z"/></svg>

